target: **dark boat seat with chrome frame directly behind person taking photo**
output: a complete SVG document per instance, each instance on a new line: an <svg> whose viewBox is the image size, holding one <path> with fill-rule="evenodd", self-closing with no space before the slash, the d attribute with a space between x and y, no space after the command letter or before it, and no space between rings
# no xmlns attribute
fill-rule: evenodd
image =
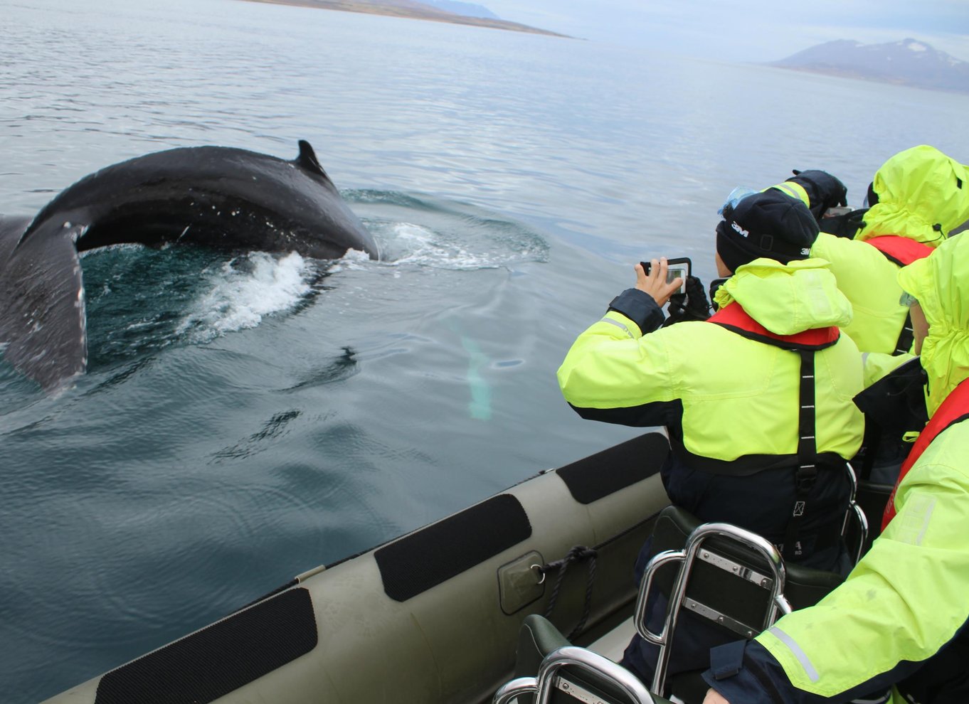
<svg viewBox="0 0 969 704"><path fill-rule="evenodd" d="M785 565L766 538L728 523L702 524L674 505L656 519L653 549L634 622L643 638L659 646L650 688L658 692L667 688L671 645L683 609L723 628L725 642L752 638L780 615L817 603L844 579L835 572ZM668 599L659 633L647 627L647 603L654 590ZM670 677L672 694L687 704L702 702L707 689L702 672Z"/></svg>

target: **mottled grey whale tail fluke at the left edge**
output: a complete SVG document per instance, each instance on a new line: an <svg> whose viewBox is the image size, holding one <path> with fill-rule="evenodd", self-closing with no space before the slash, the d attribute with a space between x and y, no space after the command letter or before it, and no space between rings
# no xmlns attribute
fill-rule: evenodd
<svg viewBox="0 0 969 704"><path fill-rule="evenodd" d="M84 286L75 246L84 226L57 227L13 248L0 277L3 358L48 394L63 390L87 367Z"/></svg>

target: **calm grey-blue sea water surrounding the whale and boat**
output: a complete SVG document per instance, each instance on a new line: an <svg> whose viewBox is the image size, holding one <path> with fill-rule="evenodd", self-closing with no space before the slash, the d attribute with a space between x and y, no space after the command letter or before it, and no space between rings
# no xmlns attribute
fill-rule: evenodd
<svg viewBox="0 0 969 704"><path fill-rule="evenodd" d="M799 47L792 47L792 51ZM965 96L241 0L2 0L0 213L176 146L309 140L384 260L83 260L89 373L0 360L0 698L34 702L313 566L637 429L555 369L645 257L713 275L736 185L966 162Z"/></svg>

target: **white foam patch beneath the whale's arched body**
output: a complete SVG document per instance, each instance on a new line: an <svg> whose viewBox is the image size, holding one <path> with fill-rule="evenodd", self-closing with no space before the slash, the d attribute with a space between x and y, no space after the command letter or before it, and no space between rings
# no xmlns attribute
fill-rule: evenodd
<svg viewBox="0 0 969 704"><path fill-rule="evenodd" d="M178 334L204 342L254 327L265 316L287 311L311 292L311 266L296 252L275 259L252 252L211 272L211 287L179 323Z"/></svg>

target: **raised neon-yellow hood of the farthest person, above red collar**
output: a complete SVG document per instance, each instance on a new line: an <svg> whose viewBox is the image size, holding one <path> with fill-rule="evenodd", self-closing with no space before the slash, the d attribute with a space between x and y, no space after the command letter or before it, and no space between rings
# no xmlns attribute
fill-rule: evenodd
<svg viewBox="0 0 969 704"><path fill-rule="evenodd" d="M875 172L878 202L856 239L897 234L935 247L969 220L969 168L932 146L898 152Z"/></svg>

